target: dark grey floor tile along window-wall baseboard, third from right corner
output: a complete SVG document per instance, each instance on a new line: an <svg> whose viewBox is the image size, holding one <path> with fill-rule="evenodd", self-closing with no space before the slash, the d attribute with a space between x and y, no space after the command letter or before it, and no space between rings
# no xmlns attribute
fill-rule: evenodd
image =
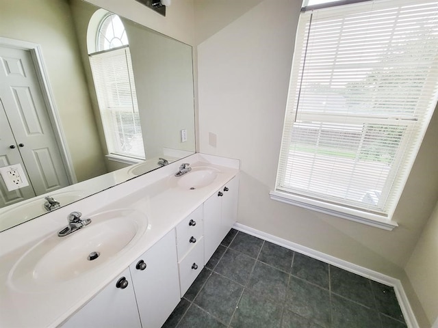
<svg viewBox="0 0 438 328"><path fill-rule="evenodd" d="M329 289L329 264L295 253L292 263L292 275Z"/></svg>

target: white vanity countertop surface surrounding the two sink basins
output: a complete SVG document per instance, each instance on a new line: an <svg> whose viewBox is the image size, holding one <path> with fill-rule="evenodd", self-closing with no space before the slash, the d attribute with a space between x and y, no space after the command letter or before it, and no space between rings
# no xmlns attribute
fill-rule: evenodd
<svg viewBox="0 0 438 328"><path fill-rule="evenodd" d="M172 184L181 163L215 167L219 173L206 187L184 190ZM5 232L0 237L0 327L56 327L112 282L129 264L203 204L238 174L239 161L193 154L154 172L64 206ZM88 217L105 210L134 208L149 218L146 232L135 245L101 267L45 290L23 290L11 283L10 272L18 259L42 237L66 226L68 213ZM83 229L86 229L83 228ZM74 232L73 232L74 234ZM63 237L68 238L68 236ZM68 258L66 258L68 260ZM29 268L31 271L32 268Z"/></svg>

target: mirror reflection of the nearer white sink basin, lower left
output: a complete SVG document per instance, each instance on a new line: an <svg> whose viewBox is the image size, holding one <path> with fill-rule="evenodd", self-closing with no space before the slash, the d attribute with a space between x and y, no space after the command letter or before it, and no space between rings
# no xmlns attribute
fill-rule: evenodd
<svg viewBox="0 0 438 328"><path fill-rule="evenodd" d="M50 193L57 202L60 202L61 206L76 202L85 197L86 194L83 191L64 191L59 193ZM35 198L29 201L23 201L19 204L8 206L6 210L0 210L0 231L16 226L17 224L29 221L34 217L38 217L47 213L44 208L44 196Z"/></svg>

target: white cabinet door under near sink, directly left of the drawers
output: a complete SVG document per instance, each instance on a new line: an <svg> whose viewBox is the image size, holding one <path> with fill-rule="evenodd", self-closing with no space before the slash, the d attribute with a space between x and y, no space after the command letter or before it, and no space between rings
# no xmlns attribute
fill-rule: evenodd
<svg viewBox="0 0 438 328"><path fill-rule="evenodd" d="M175 229L133 262L129 269L142 327L162 327L180 300Z"/></svg>

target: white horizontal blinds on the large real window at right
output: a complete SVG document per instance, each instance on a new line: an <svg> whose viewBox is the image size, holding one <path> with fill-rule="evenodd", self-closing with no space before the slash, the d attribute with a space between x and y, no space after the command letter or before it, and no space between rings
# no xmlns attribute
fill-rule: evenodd
<svg viewBox="0 0 438 328"><path fill-rule="evenodd" d="M391 215L437 102L438 1L300 16L276 189Z"/></svg>

